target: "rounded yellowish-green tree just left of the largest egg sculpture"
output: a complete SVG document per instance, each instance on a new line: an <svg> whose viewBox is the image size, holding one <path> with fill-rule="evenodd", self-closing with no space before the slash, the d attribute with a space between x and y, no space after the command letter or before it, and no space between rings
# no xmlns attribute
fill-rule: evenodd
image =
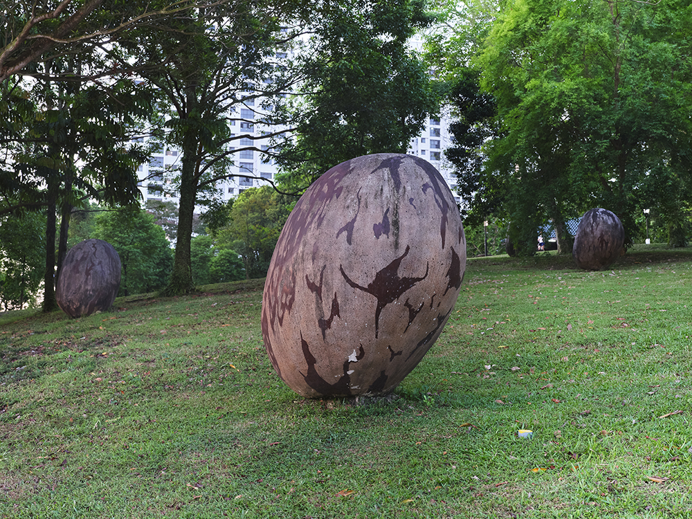
<svg viewBox="0 0 692 519"><path fill-rule="evenodd" d="M230 224L219 229L219 246L233 249L243 260L248 279L264 277L290 206L265 186L245 190L233 203Z"/></svg>

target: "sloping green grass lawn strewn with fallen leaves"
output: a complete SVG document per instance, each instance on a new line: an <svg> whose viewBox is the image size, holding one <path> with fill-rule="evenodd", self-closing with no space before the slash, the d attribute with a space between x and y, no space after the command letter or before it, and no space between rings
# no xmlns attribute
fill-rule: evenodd
<svg viewBox="0 0 692 519"><path fill-rule="evenodd" d="M0 315L0 518L692 518L692 250L469 260L385 399L298 397L262 280L204 288Z"/></svg>

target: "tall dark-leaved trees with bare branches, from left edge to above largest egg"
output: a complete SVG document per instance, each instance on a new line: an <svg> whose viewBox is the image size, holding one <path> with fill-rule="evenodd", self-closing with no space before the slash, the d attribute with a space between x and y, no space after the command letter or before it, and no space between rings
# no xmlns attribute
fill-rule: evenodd
<svg viewBox="0 0 692 519"><path fill-rule="evenodd" d="M10 4L0 10L0 226L42 215L46 310L75 208L138 205L136 167L151 150L134 137L182 151L164 289L175 294L194 289L194 207L214 199L251 137L232 131L247 122L233 120L240 107L271 108L266 122L291 131L275 138L278 188L294 196L339 161L403 152L436 107L426 65L406 46L430 22L421 0ZM267 261L237 252L246 275Z"/></svg>

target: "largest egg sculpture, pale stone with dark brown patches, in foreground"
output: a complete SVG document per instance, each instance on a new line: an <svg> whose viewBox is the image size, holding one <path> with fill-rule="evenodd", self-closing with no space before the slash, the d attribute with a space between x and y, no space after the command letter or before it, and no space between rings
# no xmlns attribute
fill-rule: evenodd
<svg viewBox="0 0 692 519"><path fill-rule="evenodd" d="M262 299L277 374L304 397L390 392L453 310L466 267L459 210L430 163L353 158L286 221Z"/></svg>

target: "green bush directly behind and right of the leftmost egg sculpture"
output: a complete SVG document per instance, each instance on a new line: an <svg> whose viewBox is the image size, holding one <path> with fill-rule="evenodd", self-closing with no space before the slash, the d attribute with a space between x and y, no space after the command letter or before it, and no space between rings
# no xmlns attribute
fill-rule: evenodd
<svg viewBox="0 0 692 519"><path fill-rule="evenodd" d="M157 291L167 284L173 255L152 215L141 210L102 212L93 237L111 244L120 256L119 295Z"/></svg>

